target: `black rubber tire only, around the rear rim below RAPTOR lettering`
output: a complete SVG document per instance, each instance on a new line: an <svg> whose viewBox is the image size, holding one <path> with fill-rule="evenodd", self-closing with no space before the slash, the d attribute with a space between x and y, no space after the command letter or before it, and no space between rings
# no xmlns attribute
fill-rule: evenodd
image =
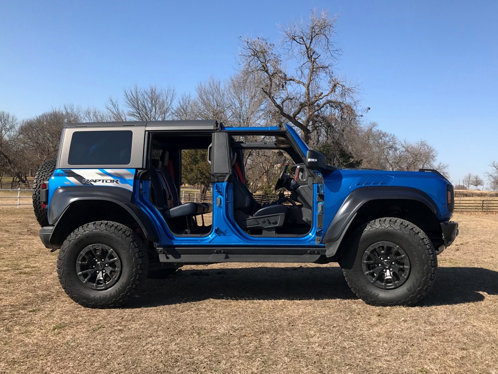
<svg viewBox="0 0 498 374"><path fill-rule="evenodd" d="M92 244L112 248L120 258L120 276L110 288L96 290L77 274L78 256ZM89 308L117 308L136 293L147 277L148 257L140 237L129 227L111 221L97 221L74 230L64 241L57 260L62 288L71 299Z"/></svg>

